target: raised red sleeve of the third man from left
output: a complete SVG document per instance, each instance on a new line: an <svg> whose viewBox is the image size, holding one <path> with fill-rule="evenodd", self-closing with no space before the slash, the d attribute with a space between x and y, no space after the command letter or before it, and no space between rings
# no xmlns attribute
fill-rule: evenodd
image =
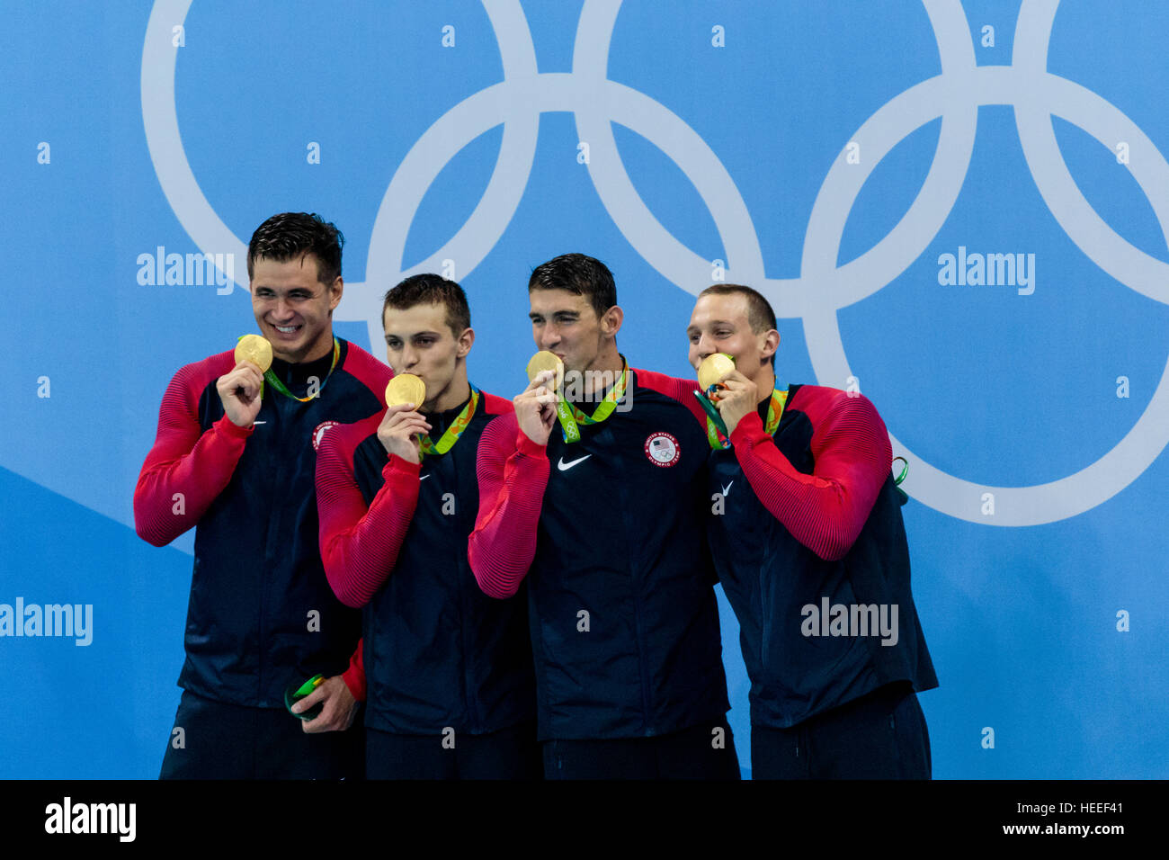
<svg viewBox="0 0 1169 860"><path fill-rule="evenodd" d="M483 592L504 599L519 591L535 557L548 454L519 429L512 413L486 426L476 459L479 511L466 555Z"/></svg>

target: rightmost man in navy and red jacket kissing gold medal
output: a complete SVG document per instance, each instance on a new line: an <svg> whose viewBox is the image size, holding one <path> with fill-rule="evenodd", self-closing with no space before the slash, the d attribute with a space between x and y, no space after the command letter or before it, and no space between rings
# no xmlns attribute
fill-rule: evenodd
<svg viewBox="0 0 1169 860"><path fill-rule="evenodd" d="M735 370L708 427L711 549L750 677L755 779L931 775L916 693L938 686L909 590L888 433L867 398L775 381L780 333L749 287L699 294L690 363Z"/></svg>

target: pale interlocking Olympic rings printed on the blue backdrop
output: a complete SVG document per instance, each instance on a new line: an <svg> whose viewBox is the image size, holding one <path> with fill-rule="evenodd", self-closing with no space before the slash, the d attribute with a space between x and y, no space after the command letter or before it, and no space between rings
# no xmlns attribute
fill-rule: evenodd
<svg viewBox="0 0 1169 860"><path fill-rule="evenodd" d="M1169 303L1169 264L1136 249L1092 209L1059 152L1051 117L1058 116L1109 150L1130 146L1129 170L1150 201L1169 241L1169 164L1148 137L1115 106L1078 84L1047 73L1047 46L1059 0L1023 0L1011 66L975 62L960 0L922 0L942 70L892 98L852 136L869 154L845 166L842 152L821 185L809 216L800 276L769 278L750 213L718 156L701 137L649 96L608 80L608 56L621 0L586 0L570 73L537 70L535 47L519 0L482 0L503 60L503 81L452 106L407 152L374 219L365 283L347 283L338 319L364 321L371 345L381 340L380 289L416 271L459 261L461 275L491 252L519 206L535 157L540 113L572 111L588 140L589 176L614 223L663 277L697 295L710 282L711 261L683 246L649 211L625 172L613 123L655 144L685 173L710 211L727 255L727 278L749 283L779 316L802 319L818 380L852 376L837 312L886 287L925 252L957 199L969 167L978 106L1011 105L1023 153L1039 193L1071 240L1104 271L1157 302ZM178 51L171 27L186 20L191 0L157 0L143 46L143 122L154 171L179 222L202 250L247 248L222 222L191 171L174 104ZM876 246L837 267L849 213L870 173L908 135L941 117L941 132L926 180L908 211ZM437 252L402 268L407 233L427 190L466 144L503 125L503 142L483 197L466 222ZM732 277L733 273L733 277ZM376 287L375 287L376 284ZM1128 434L1091 466L1031 487L990 487L948 475L916 457L890 434L894 456L913 462L902 489L949 516L990 525L1037 525L1075 516L1132 483L1169 443L1169 364L1143 414ZM994 517L981 514L982 494L996 498Z"/></svg>

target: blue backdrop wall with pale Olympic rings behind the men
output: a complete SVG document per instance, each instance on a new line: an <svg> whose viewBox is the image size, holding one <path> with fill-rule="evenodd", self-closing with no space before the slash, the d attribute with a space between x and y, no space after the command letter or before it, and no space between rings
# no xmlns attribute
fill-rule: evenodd
<svg viewBox="0 0 1169 860"><path fill-rule="evenodd" d="M556 254L676 376L694 294L761 289L780 379L909 460L934 775L1169 776L1167 40L1139 0L5 2L0 615L90 622L0 635L0 776L157 776L192 535L140 541L133 486L288 209L346 234L341 336L383 357L381 294L442 271L500 394Z"/></svg>

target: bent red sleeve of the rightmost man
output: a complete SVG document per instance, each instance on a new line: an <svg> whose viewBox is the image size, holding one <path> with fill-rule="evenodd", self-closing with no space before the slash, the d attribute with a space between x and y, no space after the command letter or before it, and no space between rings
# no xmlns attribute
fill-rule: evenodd
<svg viewBox="0 0 1169 860"><path fill-rule="evenodd" d="M731 443L763 507L800 543L833 562L852 548L890 474L888 432L867 398L835 388L803 386L788 407L808 414L815 428L811 475L780 453L758 412L739 421Z"/></svg>

